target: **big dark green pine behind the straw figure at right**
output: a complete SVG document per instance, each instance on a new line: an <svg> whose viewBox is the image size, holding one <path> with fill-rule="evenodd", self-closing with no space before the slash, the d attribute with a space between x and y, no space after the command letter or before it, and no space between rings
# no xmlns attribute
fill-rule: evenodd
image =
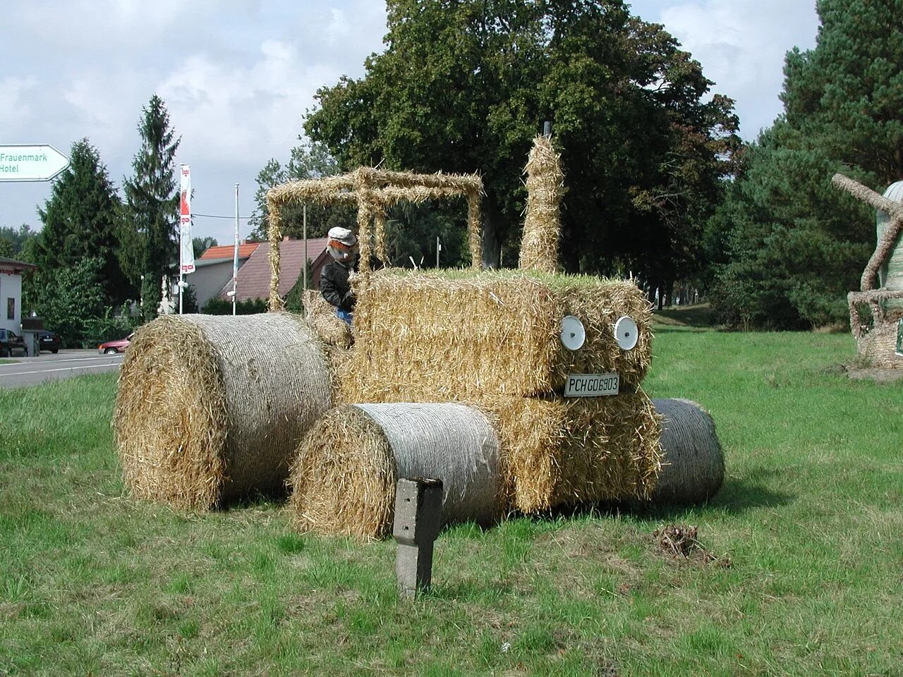
<svg viewBox="0 0 903 677"><path fill-rule="evenodd" d="M847 318L875 246L874 213L834 190L844 172L903 178L899 0L820 0L815 49L787 53L785 115L749 148L708 227L724 320L805 328Z"/></svg>

